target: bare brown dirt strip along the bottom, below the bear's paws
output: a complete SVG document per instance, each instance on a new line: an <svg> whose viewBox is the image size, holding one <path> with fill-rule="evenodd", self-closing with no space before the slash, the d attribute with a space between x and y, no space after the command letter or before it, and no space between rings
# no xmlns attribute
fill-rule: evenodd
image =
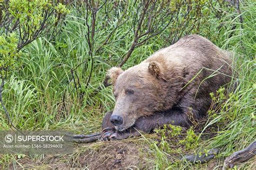
<svg viewBox="0 0 256 170"><path fill-rule="evenodd" d="M120 169L149 168L145 142L128 139L124 141L105 141L78 145L69 155L44 155L42 158L25 157L11 162L8 169ZM145 153L145 152L144 152ZM6 167L6 166L5 166Z"/></svg>

